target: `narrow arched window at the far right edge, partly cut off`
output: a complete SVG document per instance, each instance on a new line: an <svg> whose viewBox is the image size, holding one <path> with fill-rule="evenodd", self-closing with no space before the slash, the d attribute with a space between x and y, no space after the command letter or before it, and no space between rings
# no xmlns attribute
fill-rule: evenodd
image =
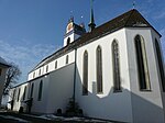
<svg viewBox="0 0 165 123"><path fill-rule="evenodd" d="M156 38L155 38L155 47L156 47L156 54L157 54L157 60L158 60L162 87L163 87L163 91L165 91L164 66L163 66L163 59L162 59L162 55L161 55L161 47L160 47L160 44L158 44Z"/></svg>

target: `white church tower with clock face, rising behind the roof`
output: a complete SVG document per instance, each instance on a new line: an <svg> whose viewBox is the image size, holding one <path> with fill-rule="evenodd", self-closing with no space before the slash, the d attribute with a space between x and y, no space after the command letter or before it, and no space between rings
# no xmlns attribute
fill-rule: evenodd
<svg viewBox="0 0 165 123"><path fill-rule="evenodd" d="M66 34L64 35L64 46L67 46L78 37L80 37L84 33L86 33L86 29L84 23L81 24L76 24L74 22L74 18L72 16L68 20L68 24L66 27Z"/></svg>

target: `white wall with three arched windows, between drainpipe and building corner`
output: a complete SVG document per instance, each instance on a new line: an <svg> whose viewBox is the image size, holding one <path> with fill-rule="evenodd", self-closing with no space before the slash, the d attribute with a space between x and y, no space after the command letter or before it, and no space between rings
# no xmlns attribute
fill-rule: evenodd
<svg viewBox="0 0 165 123"><path fill-rule="evenodd" d="M112 41L119 43L122 92L113 92ZM103 93L96 93L96 49L102 49ZM88 96L82 96L82 57L88 52ZM85 115L98 119L132 122L129 65L125 30L120 30L77 49L76 101Z"/></svg>

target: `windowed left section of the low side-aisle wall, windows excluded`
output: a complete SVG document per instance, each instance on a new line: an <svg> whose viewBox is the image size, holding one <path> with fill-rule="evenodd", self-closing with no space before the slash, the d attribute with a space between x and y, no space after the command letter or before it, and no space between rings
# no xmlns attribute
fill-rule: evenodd
<svg viewBox="0 0 165 123"><path fill-rule="evenodd" d="M43 80L43 90L42 90L42 99L41 101L37 100L38 97L38 88L40 88L40 82L41 80ZM32 83L34 85L33 87L33 102L32 102L32 109L31 112L33 113L46 113L46 104L47 104L47 86L48 86L48 81L50 81L50 76L43 76L38 79L35 79L33 81L23 83L21 86L18 86L15 89L15 96L14 96L14 107L13 107L13 111L19 111L20 107L24 108L24 111L26 111L26 104L23 102L23 92L24 92L24 87L26 86L26 93L25 93L25 100L28 100L30 98L31 94L31 87ZM11 96L13 96L13 90L12 89L10 91ZM21 89L20 91L20 99L18 101L18 92L19 89ZM12 100L12 98L10 98L10 100Z"/></svg>

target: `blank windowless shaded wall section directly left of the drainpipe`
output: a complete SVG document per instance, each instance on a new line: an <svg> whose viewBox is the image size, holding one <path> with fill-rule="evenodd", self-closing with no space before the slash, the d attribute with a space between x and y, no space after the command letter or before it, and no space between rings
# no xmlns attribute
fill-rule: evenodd
<svg viewBox="0 0 165 123"><path fill-rule="evenodd" d="M66 110L69 98L74 92L74 68L75 64L69 64L58 70L51 72L46 113L56 113L57 109Z"/></svg>

